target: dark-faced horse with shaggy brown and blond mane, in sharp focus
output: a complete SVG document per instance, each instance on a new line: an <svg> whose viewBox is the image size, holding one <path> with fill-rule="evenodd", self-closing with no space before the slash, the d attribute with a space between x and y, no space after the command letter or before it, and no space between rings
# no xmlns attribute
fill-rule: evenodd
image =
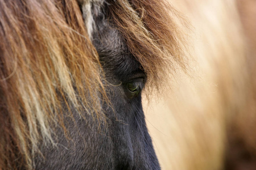
<svg viewBox="0 0 256 170"><path fill-rule="evenodd" d="M165 1L1 0L0 169L160 169L142 92L186 70L186 24Z"/></svg>

